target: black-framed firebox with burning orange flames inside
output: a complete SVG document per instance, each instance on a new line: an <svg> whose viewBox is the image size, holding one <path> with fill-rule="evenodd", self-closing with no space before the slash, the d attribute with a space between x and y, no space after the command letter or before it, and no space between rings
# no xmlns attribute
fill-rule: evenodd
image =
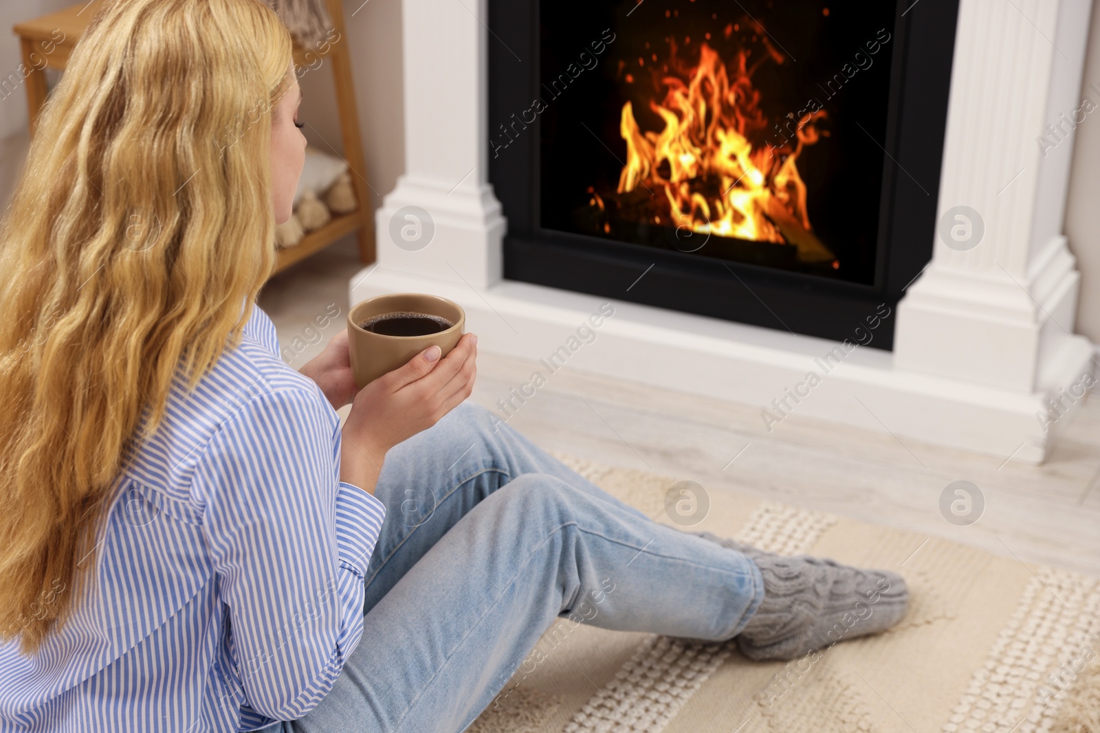
<svg viewBox="0 0 1100 733"><path fill-rule="evenodd" d="M491 0L505 277L850 336L932 256L958 3L910 4Z"/></svg>

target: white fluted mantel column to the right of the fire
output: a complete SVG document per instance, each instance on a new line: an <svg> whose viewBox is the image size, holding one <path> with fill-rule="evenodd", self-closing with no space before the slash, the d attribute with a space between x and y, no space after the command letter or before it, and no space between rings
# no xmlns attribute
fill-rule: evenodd
<svg viewBox="0 0 1100 733"><path fill-rule="evenodd" d="M899 303L898 369L1053 393L1088 368L1062 227L1090 5L960 3L935 249Z"/></svg>

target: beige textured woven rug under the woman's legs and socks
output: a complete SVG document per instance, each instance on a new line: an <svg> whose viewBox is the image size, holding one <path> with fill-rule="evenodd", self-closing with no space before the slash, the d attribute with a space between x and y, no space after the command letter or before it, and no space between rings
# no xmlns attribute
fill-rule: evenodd
<svg viewBox="0 0 1100 733"><path fill-rule="evenodd" d="M666 524L675 479L559 455ZM470 733L1100 733L1100 580L936 537L711 491L710 530L902 573L889 632L754 663L734 644L560 620Z"/></svg>

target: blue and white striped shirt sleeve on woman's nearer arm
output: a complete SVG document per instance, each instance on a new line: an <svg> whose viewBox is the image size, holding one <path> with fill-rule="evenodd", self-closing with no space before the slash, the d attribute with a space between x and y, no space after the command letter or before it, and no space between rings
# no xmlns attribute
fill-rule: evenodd
<svg viewBox="0 0 1100 733"><path fill-rule="evenodd" d="M364 574L384 504L339 480L340 427L305 390L265 391L215 433L196 481L249 707L295 720L363 633Z"/></svg>

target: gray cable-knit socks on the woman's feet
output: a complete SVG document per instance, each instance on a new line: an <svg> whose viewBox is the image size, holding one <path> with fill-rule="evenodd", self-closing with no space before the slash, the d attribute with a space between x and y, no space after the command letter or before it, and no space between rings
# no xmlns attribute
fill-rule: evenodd
<svg viewBox="0 0 1100 733"><path fill-rule="evenodd" d="M736 549L760 569L763 600L737 636L750 659L794 659L884 631L905 615L909 589L897 573L809 555L785 557L710 532L692 534Z"/></svg>

